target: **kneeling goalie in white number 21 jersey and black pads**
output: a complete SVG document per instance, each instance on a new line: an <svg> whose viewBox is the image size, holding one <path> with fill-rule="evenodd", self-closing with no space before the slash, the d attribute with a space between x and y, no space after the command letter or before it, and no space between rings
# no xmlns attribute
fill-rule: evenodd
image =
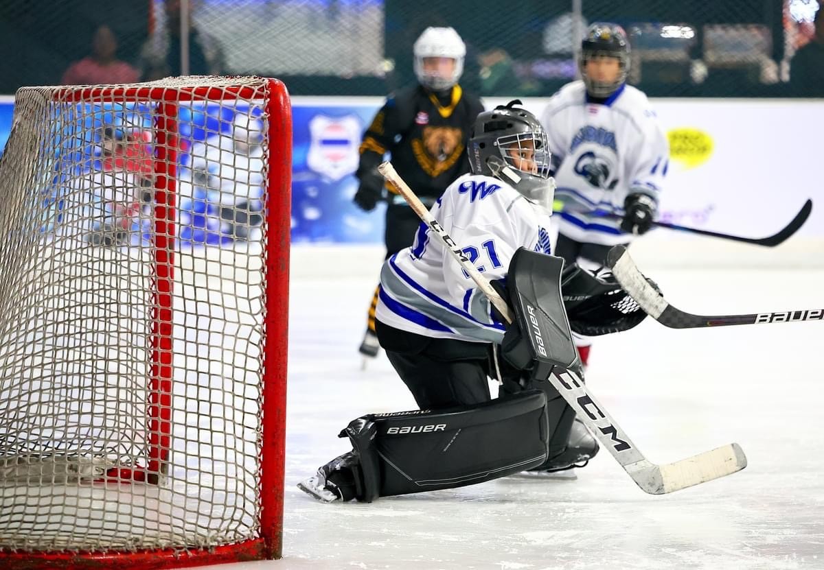
<svg viewBox="0 0 824 570"><path fill-rule="evenodd" d="M597 440L545 380L555 367L579 369L572 331L619 332L646 314L614 280L576 264L562 269L561 259L545 255L550 152L538 119L517 104L478 115L472 174L430 211L493 280L513 322L503 325L422 224L414 245L384 263L376 316L377 338L421 409L353 419L339 433L352 451L297 485L312 497L372 502L581 467L597 453ZM495 399L488 376L501 381Z"/></svg>

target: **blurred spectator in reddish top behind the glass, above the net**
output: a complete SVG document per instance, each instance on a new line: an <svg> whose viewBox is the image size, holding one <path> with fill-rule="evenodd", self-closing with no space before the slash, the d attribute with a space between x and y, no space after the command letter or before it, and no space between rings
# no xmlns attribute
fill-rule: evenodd
<svg viewBox="0 0 824 570"><path fill-rule="evenodd" d="M117 39L109 26L100 26L91 40L91 55L72 63L63 73L63 85L133 83L139 72L117 58Z"/></svg>

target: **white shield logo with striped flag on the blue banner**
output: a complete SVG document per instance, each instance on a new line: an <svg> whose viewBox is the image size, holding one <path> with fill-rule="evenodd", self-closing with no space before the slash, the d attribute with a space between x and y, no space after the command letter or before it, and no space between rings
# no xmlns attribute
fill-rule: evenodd
<svg viewBox="0 0 824 570"><path fill-rule="evenodd" d="M307 166L332 180L340 180L358 170L361 125L358 117L326 117L316 114L309 121L311 142Z"/></svg>

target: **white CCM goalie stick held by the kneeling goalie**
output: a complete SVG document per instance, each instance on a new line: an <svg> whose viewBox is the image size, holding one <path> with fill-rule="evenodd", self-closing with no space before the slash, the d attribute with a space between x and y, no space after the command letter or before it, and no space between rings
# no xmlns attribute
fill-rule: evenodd
<svg viewBox="0 0 824 570"><path fill-rule="evenodd" d="M438 236L438 239L452 252L452 256L461 264L461 267L466 269L480 290L489 297L489 301L511 323L512 311L509 310L506 301L503 301L503 298L494 291L489 281L478 272L475 265L471 264L466 254L400 178L391 163L383 162L377 170L397 189L414 213L418 214L421 220L432 229L435 236ZM737 443L705 451L675 463L656 465L644 457L644 454L630 441L624 430L606 412L602 404L599 404L597 399L589 393L583 380L574 371L557 372L555 370L550 373L547 381L555 387L555 390L558 390L567 404L595 434L601 445L609 450L610 455L618 461L635 484L645 493L654 495L672 493L733 474L747 466L747 457L744 456L744 451Z"/></svg>

